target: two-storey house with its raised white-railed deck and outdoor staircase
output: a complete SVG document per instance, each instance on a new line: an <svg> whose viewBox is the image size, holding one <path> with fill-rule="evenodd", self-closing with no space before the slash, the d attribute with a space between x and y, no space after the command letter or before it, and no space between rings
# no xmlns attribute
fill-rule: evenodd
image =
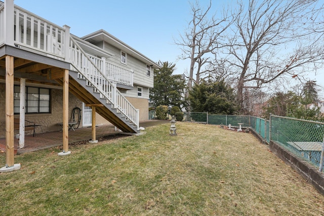
<svg viewBox="0 0 324 216"><path fill-rule="evenodd" d="M0 100L6 102L0 105L0 137L19 133L12 129L15 117L42 124L44 132L58 131L64 122L64 137L75 107L83 112L80 126L91 125L85 104L96 110L97 124L138 133L139 121L148 119L149 88L159 66L104 30L77 37L69 26L13 2L0 2Z"/></svg>

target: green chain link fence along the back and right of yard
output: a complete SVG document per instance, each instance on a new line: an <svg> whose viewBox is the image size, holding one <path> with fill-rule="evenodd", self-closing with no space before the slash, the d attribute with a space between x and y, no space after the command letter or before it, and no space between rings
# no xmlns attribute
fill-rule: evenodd
<svg viewBox="0 0 324 216"><path fill-rule="evenodd" d="M154 114L150 112L150 117ZM271 115L270 120L247 115L214 115L184 112L184 121L251 128L267 143L271 141L312 163L322 171L324 122Z"/></svg>

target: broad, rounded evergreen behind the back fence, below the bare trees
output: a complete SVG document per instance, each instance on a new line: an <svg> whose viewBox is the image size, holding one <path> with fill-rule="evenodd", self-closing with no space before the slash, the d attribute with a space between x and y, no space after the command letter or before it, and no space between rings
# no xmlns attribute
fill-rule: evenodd
<svg viewBox="0 0 324 216"><path fill-rule="evenodd" d="M233 89L222 81L201 81L189 92L192 112L234 114L237 111Z"/></svg>

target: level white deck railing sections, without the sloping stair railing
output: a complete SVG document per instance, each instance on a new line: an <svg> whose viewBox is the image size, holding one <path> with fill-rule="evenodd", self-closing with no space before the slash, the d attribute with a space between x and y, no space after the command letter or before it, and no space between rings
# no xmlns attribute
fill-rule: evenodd
<svg viewBox="0 0 324 216"><path fill-rule="evenodd" d="M4 5L0 6L0 45L5 43L5 16ZM34 50L37 53L44 53L46 56L61 59L69 62L69 53L73 48L70 46L69 28L55 25L35 14L32 14L18 6L14 6L14 44L17 47L24 47ZM67 38L67 39L66 39ZM79 42L79 41L78 41ZM82 42L82 41L80 41ZM99 48L98 48L99 49ZM132 70L115 65L105 58L97 58L90 54L93 62L100 68L103 74L112 82L129 85L133 87ZM77 61L74 63L82 62ZM84 70L92 70L90 65L83 65Z"/></svg>

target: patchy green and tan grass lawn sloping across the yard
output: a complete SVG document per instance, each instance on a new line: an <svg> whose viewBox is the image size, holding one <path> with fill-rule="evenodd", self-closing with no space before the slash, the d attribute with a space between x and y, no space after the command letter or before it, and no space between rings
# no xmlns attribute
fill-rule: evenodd
<svg viewBox="0 0 324 216"><path fill-rule="evenodd" d="M323 196L251 134L176 126L15 156L0 215L324 215Z"/></svg>

